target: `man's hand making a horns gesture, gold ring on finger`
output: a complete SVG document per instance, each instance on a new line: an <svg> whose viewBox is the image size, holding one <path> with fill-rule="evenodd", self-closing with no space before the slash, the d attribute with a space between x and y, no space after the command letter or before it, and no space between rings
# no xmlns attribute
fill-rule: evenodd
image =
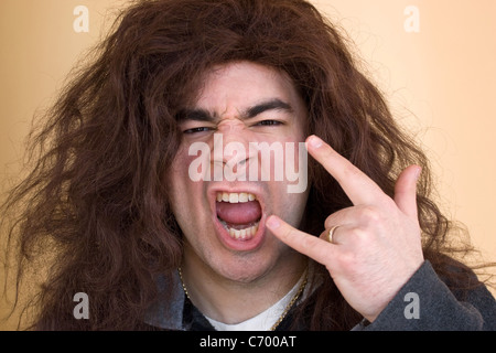
<svg viewBox="0 0 496 353"><path fill-rule="evenodd" d="M403 170L391 199L320 138L311 136L306 148L353 206L331 214L320 238L274 215L267 226L280 240L324 265L346 301L373 322L423 263L416 196L421 169ZM338 227L330 243L334 226Z"/></svg>

